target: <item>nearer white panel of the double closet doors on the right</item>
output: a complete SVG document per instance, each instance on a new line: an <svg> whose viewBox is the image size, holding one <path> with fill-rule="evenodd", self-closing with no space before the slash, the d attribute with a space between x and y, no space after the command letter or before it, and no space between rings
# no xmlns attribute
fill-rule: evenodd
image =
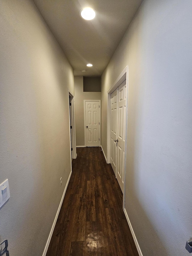
<svg viewBox="0 0 192 256"><path fill-rule="evenodd" d="M117 118L117 180L124 193L125 172L125 125L126 125L126 80L118 87Z"/></svg>

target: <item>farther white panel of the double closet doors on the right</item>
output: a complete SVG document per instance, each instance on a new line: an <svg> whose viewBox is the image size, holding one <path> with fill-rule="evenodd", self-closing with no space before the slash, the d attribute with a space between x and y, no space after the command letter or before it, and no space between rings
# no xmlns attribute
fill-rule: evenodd
<svg viewBox="0 0 192 256"><path fill-rule="evenodd" d="M116 175L116 149L117 143L117 94L118 89L116 89L111 94L111 143L110 143L110 163L113 168L113 171Z"/></svg>

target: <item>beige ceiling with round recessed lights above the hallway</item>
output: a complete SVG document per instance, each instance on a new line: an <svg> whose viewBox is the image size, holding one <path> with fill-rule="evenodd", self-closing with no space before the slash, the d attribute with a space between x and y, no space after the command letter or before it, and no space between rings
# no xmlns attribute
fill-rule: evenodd
<svg viewBox="0 0 192 256"><path fill-rule="evenodd" d="M74 69L75 76L101 76L142 0L33 0ZM94 20L79 11L91 7ZM93 67L87 67L88 63ZM86 72L82 72L86 69Z"/></svg>

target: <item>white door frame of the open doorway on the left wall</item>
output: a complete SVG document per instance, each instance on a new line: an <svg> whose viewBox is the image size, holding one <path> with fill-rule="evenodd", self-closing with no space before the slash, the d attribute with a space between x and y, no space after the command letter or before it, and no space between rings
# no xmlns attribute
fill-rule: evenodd
<svg viewBox="0 0 192 256"><path fill-rule="evenodd" d="M68 102L69 102L69 96L71 97L71 125L72 125L72 129L70 129L70 106L69 106L69 132L71 133L70 145L72 145L72 148L73 148L71 156L73 159L76 159L77 154L76 154L76 134L75 134L75 95L68 88ZM71 146L70 146L70 149L71 149Z"/></svg>

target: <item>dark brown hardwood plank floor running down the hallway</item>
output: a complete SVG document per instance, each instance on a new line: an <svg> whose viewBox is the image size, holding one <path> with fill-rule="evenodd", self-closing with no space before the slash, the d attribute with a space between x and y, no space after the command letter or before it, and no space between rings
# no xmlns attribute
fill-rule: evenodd
<svg viewBox="0 0 192 256"><path fill-rule="evenodd" d="M122 200L101 148L77 148L46 256L138 256Z"/></svg>

